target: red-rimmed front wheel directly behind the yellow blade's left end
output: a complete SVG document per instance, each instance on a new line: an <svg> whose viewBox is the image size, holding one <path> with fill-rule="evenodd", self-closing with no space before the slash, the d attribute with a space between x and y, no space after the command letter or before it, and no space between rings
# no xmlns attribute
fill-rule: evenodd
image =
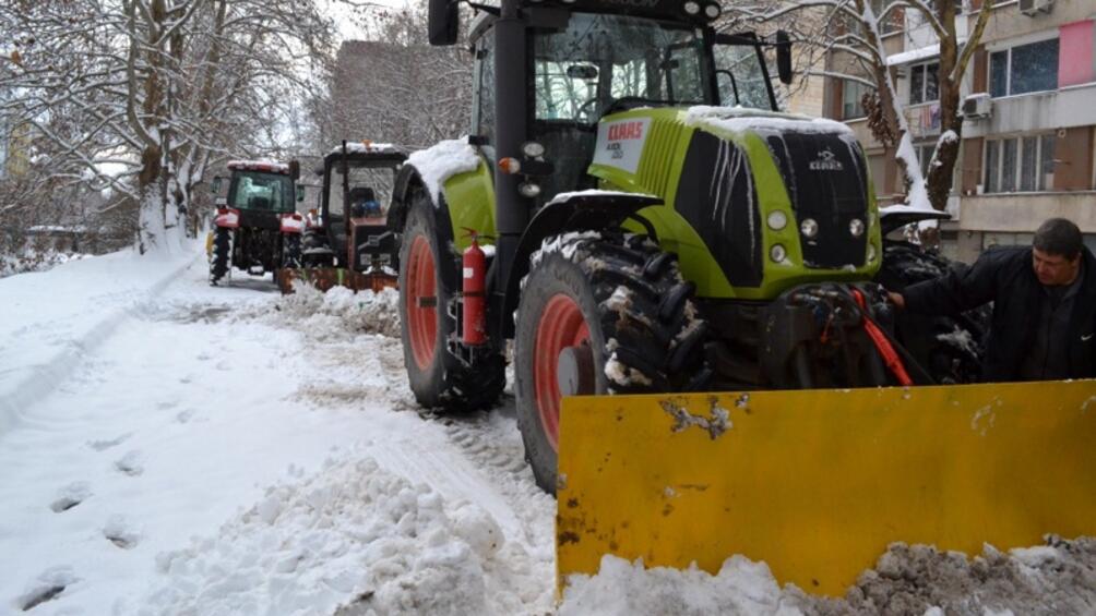
<svg viewBox="0 0 1096 616"><path fill-rule="evenodd" d="M711 372L707 325L676 256L637 235L545 246L524 281L514 373L525 456L537 485L555 493L564 394L696 391Z"/></svg>

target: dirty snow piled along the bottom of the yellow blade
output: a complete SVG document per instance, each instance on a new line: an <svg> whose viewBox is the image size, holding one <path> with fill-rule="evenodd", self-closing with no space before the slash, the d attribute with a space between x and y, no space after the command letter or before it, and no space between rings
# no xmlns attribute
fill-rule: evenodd
<svg viewBox="0 0 1096 616"><path fill-rule="evenodd" d="M1008 554L986 545L969 559L932 546L895 543L860 574L844 598L780 589L764 562L734 556L711 576L602 559L596 576L571 576L561 615L767 614L850 616L876 614L985 616L1092 614L1096 605L1096 541L1063 541Z"/></svg>

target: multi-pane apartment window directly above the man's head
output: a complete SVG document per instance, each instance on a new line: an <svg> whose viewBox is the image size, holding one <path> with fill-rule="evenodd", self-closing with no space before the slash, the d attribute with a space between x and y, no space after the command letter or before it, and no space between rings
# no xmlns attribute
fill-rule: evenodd
<svg viewBox="0 0 1096 616"><path fill-rule="evenodd" d="M985 193L1035 193L1054 186L1054 133L985 142Z"/></svg>

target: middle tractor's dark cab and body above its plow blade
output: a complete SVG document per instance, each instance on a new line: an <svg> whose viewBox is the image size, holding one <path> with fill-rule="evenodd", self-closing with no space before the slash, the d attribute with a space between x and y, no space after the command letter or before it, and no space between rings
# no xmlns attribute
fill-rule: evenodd
<svg viewBox="0 0 1096 616"><path fill-rule="evenodd" d="M397 237L385 216L404 160L395 147L370 141L344 141L323 158L319 211L305 236L306 267L395 267Z"/></svg>

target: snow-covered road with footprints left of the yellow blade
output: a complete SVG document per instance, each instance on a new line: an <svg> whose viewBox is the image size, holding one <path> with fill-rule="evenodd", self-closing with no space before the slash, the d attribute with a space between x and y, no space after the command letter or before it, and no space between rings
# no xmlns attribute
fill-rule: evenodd
<svg viewBox="0 0 1096 616"><path fill-rule="evenodd" d="M126 304L0 434L0 612L550 612L512 405L416 410L393 304L201 259Z"/></svg>

